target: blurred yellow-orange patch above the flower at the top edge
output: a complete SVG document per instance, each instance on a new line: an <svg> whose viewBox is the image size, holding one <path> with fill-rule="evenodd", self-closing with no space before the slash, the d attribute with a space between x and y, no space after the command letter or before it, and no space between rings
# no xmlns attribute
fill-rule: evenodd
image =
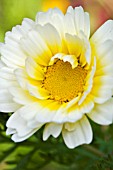
<svg viewBox="0 0 113 170"><path fill-rule="evenodd" d="M67 7L70 5L69 0L43 0L42 10L47 11L49 8L59 8L62 12L66 12Z"/></svg>

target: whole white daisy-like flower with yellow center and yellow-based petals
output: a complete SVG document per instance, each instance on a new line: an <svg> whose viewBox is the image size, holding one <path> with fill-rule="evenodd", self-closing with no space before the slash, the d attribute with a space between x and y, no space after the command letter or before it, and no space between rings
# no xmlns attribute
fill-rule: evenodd
<svg viewBox="0 0 113 170"><path fill-rule="evenodd" d="M92 141L89 117L113 122L113 21L90 38L82 7L39 12L1 44L0 110L14 112L7 134L20 142L42 126L43 140L62 133L74 148Z"/></svg>

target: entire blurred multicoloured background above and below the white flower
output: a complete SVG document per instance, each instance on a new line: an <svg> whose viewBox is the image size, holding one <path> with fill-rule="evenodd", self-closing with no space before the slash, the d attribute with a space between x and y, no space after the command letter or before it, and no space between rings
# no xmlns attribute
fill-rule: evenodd
<svg viewBox="0 0 113 170"><path fill-rule="evenodd" d="M5 32L21 24L23 18L35 19L38 11L81 5L90 13L91 34L106 20L113 19L113 0L0 0L0 42ZM0 113L0 170L113 170L113 125L98 126L91 122L92 144L73 150L62 138L42 141L42 130L25 142L14 144L5 135L9 114Z"/></svg>

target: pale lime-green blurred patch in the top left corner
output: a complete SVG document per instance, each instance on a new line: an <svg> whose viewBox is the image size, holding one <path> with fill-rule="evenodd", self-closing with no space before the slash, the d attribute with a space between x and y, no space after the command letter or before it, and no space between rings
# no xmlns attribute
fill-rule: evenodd
<svg viewBox="0 0 113 170"><path fill-rule="evenodd" d="M34 19L41 9L41 0L0 0L0 41L6 31L21 24L23 18Z"/></svg>

